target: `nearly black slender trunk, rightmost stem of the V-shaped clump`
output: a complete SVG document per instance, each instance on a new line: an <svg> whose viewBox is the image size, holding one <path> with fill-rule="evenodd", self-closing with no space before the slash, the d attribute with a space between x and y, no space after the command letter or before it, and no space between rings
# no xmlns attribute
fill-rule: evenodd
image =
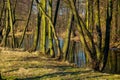
<svg viewBox="0 0 120 80"><path fill-rule="evenodd" d="M113 9L113 2L112 0L108 0L107 18L106 18L106 34L105 34L105 43L104 43L104 58L103 58L103 67L101 71L104 70L107 63L107 58L108 58L109 45L110 45L110 29L111 29L111 21L112 21L112 9Z"/></svg>

